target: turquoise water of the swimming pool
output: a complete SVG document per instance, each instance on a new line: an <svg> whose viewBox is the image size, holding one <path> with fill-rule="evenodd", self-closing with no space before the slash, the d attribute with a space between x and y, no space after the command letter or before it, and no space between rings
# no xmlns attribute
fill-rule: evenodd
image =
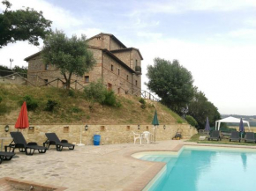
<svg viewBox="0 0 256 191"><path fill-rule="evenodd" d="M253 150L184 148L178 155L146 154L140 159L167 163L149 191L256 190Z"/></svg>

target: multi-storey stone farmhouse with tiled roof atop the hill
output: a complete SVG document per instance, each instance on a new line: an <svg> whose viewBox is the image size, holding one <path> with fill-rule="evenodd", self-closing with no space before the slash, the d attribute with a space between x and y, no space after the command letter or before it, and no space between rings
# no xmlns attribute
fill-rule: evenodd
<svg viewBox="0 0 256 191"><path fill-rule="evenodd" d="M137 48L126 48L110 33L99 33L87 40L94 53L94 70L83 77L72 76L71 87L82 89L90 82L102 80L108 89L116 93L136 93L141 89L142 55ZM27 80L36 85L64 87L64 77L52 65L42 62L41 52L25 58L28 62Z"/></svg>

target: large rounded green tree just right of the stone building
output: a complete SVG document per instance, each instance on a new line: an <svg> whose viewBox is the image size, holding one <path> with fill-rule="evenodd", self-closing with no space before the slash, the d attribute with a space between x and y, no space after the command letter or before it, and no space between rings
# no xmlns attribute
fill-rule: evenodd
<svg viewBox="0 0 256 191"><path fill-rule="evenodd" d="M154 65L147 66L147 77L149 90L155 92L164 105L177 114L183 114L183 110L193 96L191 72L181 66L177 60L170 62L155 58Z"/></svg>

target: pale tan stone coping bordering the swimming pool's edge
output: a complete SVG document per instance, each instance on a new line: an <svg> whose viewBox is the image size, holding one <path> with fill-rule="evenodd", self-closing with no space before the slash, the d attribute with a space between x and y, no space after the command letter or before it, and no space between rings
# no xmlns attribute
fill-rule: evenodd
<svg viewBox="0 0 256 191"><path fill-rule="evenodd" d="M130 151L124 153L125 158L130 158L134 160L139 160L141 163L147 163L151 164L149 169L147 169L146 172L142 173L139 175L139 177L132 182L128 187L124 187L123 191L142 191L147 184L154 179L154 177L160 173L162 168L166 165L164 162L151 162L151 161L146 161L146 160L141 160L139 158L133 158L132 155L135 153L139 152L148 152L148 151L180 151L184 146L208 146L208 147L225 147L225 148L246 148L246 149L254 149L256 150L256 146L247 146L247 145L226 145L226 144L207 144L207 143L201 143L201 144L196 144L196 143L184 143L184 144L177 144L177 146L173 149L170 150L140 150L140 151Z"/></svg>

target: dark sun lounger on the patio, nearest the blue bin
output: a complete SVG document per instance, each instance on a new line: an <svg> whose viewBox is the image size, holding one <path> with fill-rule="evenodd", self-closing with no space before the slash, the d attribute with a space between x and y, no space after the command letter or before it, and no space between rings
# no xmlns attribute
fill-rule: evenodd
<svg viewBox="0 0 256 191"><path fill-rule="evenodd" d="M68 143L67 140L60 141L55 133L46 133L45 136L47 136L47 140L45 143L43 143L43 145L48 147L48 149L49 146L52 144L56 145L56 151L62 151L64 147L68 147L69 150L74 150L75 148L75 145L72 143Z"/></svg>

